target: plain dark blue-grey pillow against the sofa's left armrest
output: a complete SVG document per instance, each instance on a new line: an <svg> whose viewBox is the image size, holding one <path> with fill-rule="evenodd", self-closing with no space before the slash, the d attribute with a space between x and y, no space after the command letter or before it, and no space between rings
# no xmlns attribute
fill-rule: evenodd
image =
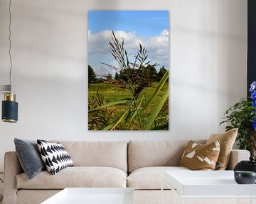
<svg viewBox="0 0 256 204"><path fill-rule="evenodd" d="M36 141L15 138L14 144L18 160L21 163L23 171L28 176L28 179L32 179L40 171L46 169Z"/></svg>

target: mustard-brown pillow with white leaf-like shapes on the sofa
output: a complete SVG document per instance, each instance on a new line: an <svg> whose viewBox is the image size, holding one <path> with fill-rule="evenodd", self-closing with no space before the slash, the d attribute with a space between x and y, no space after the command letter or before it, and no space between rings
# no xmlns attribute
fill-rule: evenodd
<svg viewBox="0 0 256 204"><path fill-rule="evenodd" d="M179 166L191 170L214 170L219 154L220 143L218 141L202 145L190 140L181 157Z"/></svg>

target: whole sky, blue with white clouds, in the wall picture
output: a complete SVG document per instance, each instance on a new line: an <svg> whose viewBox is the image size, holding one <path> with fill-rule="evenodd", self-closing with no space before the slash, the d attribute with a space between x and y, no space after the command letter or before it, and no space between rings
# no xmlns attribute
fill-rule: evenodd
<svg viewBox="0 0 256 204"><path fill-rule="evenodd" d="M116 37L124 38L129 61L139 50L139 43L146 47L148 60L169 69L169 11L89 11L88 12L88 64L95 74L112 74L102 62L117 66L110 54L111 30Z"/></svg>

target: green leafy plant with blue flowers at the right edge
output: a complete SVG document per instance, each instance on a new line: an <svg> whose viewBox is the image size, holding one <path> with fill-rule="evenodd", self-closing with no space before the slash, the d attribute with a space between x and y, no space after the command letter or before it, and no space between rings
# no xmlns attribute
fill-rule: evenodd
<svg viewBox="0 0 256 204"><path fill-rule="evenodd" d="M240 102L230 106L225 111L220 125L227 124L225 130L238 128L239 149L247 149L252 157L256 156L256 81L250 85L251 96L243 98ZM256 157L255 157L256 158Z"/></svg>

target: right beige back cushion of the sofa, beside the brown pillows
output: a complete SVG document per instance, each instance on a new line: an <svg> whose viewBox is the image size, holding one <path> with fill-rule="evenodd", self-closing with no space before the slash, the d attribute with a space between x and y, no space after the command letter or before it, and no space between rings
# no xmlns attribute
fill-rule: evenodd
<svg viewBox="0 0 256 204"><path fill-rule="evenodd" d="M146 166L178 166L187 143L131 140L128 145L128 171Z"/></svg>

